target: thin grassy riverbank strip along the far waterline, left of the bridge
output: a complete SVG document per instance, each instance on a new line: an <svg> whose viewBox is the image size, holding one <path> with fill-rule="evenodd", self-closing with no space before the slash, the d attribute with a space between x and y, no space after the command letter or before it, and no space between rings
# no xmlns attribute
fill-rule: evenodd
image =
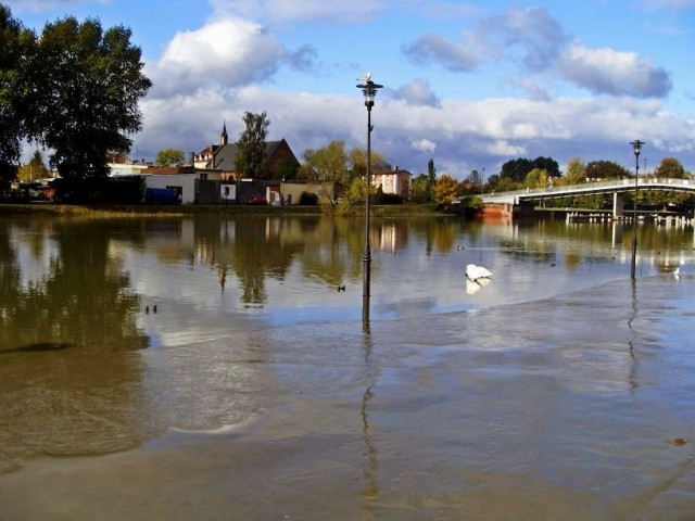
<svg viewBox="0 0 695 521"><path fill-rule="evenodd" d="M355 206L351 215L364 215L364 208ZM321 215L330 213L321 206L254 206L254 205L77 205L77 204L0 204L0 215L52 215L61 217L149 217L185 215ZM402 204L371 206L371 215L381 216L439 216L432 205Z"/></svg>

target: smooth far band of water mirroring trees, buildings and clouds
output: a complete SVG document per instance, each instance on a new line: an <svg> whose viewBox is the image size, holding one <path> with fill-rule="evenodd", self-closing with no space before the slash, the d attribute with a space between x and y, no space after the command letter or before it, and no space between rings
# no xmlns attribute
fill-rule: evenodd
<svg viewBox="0 0 695 521"><path fill-rule="evenodd" d="M359 312L358 219L4 219L1 226L0 350L50 342L156 346L180 329L163 322L193 310L242 319L253 313L275 325L353 319ZM619 223L375 219L375 318L466 310L610 280L615 266L628 262L621 230ZM673 271L693 257L687 230L644 226L639 239L642 276ZM468 263L495 272L484 291L467 285ZM142 310L157 304L176 313L143 322Z"/></svg>

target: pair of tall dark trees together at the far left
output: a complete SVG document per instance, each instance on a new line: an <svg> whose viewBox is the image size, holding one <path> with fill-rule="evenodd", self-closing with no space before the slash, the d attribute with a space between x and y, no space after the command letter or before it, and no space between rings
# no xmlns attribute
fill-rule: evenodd
<svg viewBox="0 0 695 521"><path fill-rule="evenodd" d="M37 34L0 4L0 188L16 177L26 140L52 151L66 192L89 199L102 189L108 153L129 152L152 86L130 38L122 25L72 16Z"/></svg>

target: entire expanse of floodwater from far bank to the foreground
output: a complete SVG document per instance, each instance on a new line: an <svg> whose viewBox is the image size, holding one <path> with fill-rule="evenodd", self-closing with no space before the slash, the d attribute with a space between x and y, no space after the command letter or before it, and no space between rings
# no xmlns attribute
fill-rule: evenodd
<svg viewBox="0 0 695 521"><path fill-rule="evenodd" d="M0 520L695 519L692 228L372 225L0 219Z"/></svg>

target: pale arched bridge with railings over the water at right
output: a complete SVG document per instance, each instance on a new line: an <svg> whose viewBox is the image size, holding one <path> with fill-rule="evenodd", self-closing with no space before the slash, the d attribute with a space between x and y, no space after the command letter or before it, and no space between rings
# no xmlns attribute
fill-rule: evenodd
<svg viewBox="0 0 695 521"><path fill-rule="evenodd" d="M578 198L583 195L612 194L612 215L623 215L624 194L634 191L634 179L612 179L609 181L585 182L566 187L548 187L535 190L517 190L513 192L483 193L485 205L523 206L530 203L551 199ZM669 190L694 192L695 181L691 179L639 179L640 190Z"/></svg>

